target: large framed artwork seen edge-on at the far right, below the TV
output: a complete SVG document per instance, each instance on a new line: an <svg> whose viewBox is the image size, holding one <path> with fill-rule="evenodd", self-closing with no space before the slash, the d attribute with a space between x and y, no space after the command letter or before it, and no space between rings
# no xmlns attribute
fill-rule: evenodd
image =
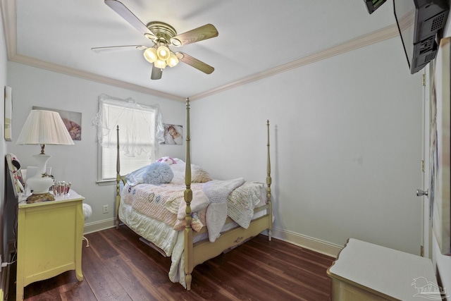
<svg viewBox="0 0 451 301"><path fill-rule="evenodd" d="M450 201L450 79L451 38L441 39L435 59L435 73L431 94L429 201L432 228L440 252L451 255Z"/></svg>

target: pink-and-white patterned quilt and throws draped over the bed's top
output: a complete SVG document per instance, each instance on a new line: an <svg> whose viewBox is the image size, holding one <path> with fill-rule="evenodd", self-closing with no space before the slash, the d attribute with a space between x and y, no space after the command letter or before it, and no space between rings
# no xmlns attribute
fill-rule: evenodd
<svg viewBox="0 0 451 301"><path fill-rule="evenodd" d="M126 184L121 199L140 214L182 231L186 225L185 189L176 184ZM219 237L227 216L247 228L254 207L265 197L263 183L245 183L243 178L192 183L191 190L192 229L199 232L207 226L211 242Z"/></svg>

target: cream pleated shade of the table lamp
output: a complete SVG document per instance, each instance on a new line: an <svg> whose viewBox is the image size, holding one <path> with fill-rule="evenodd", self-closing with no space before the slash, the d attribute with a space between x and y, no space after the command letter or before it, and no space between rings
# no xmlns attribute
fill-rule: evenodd
<svg viewBox="0 0 451 301"><path fill-rule="evenodd" d="M18 145L73 145L63 119L58 112L32 110L23 125Z"/></svg>

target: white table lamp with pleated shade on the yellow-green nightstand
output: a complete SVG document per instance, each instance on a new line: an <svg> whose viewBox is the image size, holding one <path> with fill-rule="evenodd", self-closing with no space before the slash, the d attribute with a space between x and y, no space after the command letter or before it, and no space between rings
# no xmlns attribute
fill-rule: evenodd
<svg viewBox="0 0 451 301"><path fill-rule="evenodd" d="M26 185L32 189L27 203L53 201L55 198L49 193L49 188L54 184L54 179L46 173L47 161L51 156L44 154L44 147L74 144L63 119L55 111L30 111L16 144L41 146L41 153L33 156L38 164L36 174L26 180Z"/></svg>

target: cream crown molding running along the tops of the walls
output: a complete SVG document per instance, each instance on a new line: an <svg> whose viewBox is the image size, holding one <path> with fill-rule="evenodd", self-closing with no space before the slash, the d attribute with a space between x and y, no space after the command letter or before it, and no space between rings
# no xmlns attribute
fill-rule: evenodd
<svg viewBox="0 0 451 301"><path fill-rule="evenodd" d="M151 94L157 97L163 97L166 99L173 99L180 102L185 102L185 97L180 97L174 94L168 94L165 92L161 92L158 90L149 89L147 87L142 87L140 85L134 85L130 82L125 82L122 80L115 80L113 78L108 78L106 76L97 75L94 73L89 73L83 70L69 68L66 66L57 65L55 63L50 63L47 61L41 61L30 56L23 56L17 53L17 17L16 17L16 1L9 0L1 0L1 12L4 22L4 32L6 39L6 49L8 52L8 60L14 61L16 63L23 63L25 65L34 66L37 68L43 68L47 70L51 70L58 73L63 73L66 75L72 75L78 78L85 78L87 80L92 80L95 82L101 82L106 85L113 85L115 87L121 87L123 89L133 90L137 92L142 92L144 94ZM412 16L409 16L406 20L400 20L402 23L401 27L407 27L409 24L413 23ZM245 78L241 78L240 80L236 80L234 82L230 82L226 85L222 85L220 87L216 87L214 89L195 94L190 96L190 101L194 101L197 99L203 99L205 97L209 97L213 94L217 94L226 90L233 89L235 87L240 87L242 85L246 85L249 82L254 82L257 80L261 80L263 78L268 78L270 76L276 75L278 73L283 73L288 70L292 70L294 68L299 68L302 66L309 65L316 61L321 61L323 59L328 59L332 56L338 56L340 54L344 54L345 52L352 51L355 49L359 49L362 47L366 47L370 44L374 44L377 42L384 41L385 39L391 39L393 37L399 36L399 31L397 29L397 25L390 25L381 30L377 30L375 32L371 32L369 35L364 35L361 37L357 37L350 41L344 42L342 44L335 45L328 49L324 49L322 51L318 51L314 54L310 54L308 56L304 56L295 61L290 61L289 63L284 63L283 65L276 66L274 68L264 70L260 73L256 73L254 75L249 75Z"/></svg>

